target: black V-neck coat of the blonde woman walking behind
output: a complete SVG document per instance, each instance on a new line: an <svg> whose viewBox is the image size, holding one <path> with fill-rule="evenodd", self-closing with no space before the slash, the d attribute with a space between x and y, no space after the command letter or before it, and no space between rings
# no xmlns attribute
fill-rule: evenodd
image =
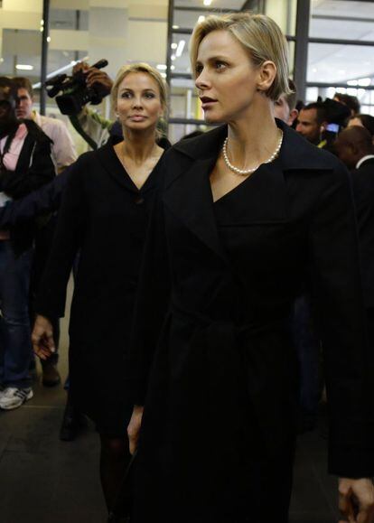
<svg viewBox="0 0 374 523"><path fill-rule="evenodd" d="M149 211L160 162L138 190L113 143L80 156L59 211L36 311L64 315L66 286L79 251L70 311L74 402L108 435L126 434L126 348Z"/></svg>

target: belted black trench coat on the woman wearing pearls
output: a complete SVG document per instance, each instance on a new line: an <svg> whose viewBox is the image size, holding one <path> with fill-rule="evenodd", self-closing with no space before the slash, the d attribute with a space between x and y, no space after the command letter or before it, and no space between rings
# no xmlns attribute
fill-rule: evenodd
<svg viewBox="0 0 374 523"><path fill-rule="evenodd" d="M131 354L145 404L135 523L287 520L298 390L288 319L305 279L325 351L330 472L374 472L349 175L277 125L278 158L239 187L231 259L209 182L227 127L164 156Z"/></svg>

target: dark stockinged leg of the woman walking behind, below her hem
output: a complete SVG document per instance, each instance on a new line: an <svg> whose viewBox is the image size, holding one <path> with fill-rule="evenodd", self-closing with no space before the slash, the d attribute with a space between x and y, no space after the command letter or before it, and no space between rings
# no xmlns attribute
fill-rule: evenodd
<svg viewBox="0 0 374 523"><path fill-rule="evenodd" d="M100 434L100 479L108 511L113 509L117 492L130 461L128 439Z"/></svg>

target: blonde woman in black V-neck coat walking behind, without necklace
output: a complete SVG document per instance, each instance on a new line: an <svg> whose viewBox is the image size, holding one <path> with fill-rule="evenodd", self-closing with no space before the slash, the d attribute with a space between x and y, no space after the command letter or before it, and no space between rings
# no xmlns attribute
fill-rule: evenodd
<svg viewBox="0 0 374 523"><path fill-rule="evenodd" d="M119 70L112 101L124 139L83 154L72 167L36 305L33 347L44 359L54 350L51 319L64 314L70 268L79 250L70 313L71 393L74 405L97 425L108 509L129 459L126 344L164 154L156 126L165 100L157 70L143 63Z"/></svg>

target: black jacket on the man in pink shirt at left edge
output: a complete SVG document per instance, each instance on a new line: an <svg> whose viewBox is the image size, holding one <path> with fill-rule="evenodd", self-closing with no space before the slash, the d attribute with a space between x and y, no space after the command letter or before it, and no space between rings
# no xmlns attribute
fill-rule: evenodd
<svg viewBox="0 0 374 523"><path fill-rule="evenodd" d="M14 201L22 199L55 177L50 138L32 120L24 120L23 123L28 132L15 170L0 173L0 191L4 191ZM15 252L20 253L31 247L35 232L33 221L12 225L10 230Z"/></svg>

